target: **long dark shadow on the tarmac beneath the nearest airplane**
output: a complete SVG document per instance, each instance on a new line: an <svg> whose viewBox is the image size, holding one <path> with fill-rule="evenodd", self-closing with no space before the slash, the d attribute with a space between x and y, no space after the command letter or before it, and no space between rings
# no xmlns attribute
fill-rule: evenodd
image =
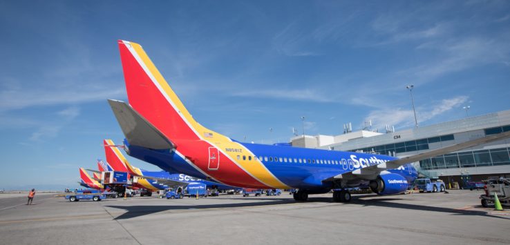
<svg viewBox="0 0 510 245"><path fill-rule="evenodd" d="M508 219L507 217L500 217L497 215L490 215L486 211L480 210L462 210L455 208L442 208L436 206L424 206L424 205L416 205L416 204L402 204L398 202L401 200L397 196L390 198L377 198L377 199L365 199L366 197L377 197L377 195L357 195L352 197L352 202L349 203L338 203L339 205L359 205L359 206L377 206L377 207L385 207L385 208L400 208L400 209L410 209L410 210L425 210L430 212L437 213L449 213L452 215L478 215L484 217L493 217L498 219ZM222 199L236 199L239 198L222 198ZM116 217L115 219L130 219L133 217L139 217L143 215L150 215L152 213L159 213L167 210L190 210L190 209L207 209L207 208L240 208L240 207L250 207L250 206L274 206L274 205L282 205L282 204L296 204L294 199L288 198L260 198L260 197L246 197L245 200L261 200L266 202L245 202L245 203L235 203L235 204L209 204L209 205L197 205L197 206L106 206L109 208L119 208L127 210L126 213ZM323 203L335 203L333 202L332 197L309 197L308 202L323 202ZM307 202L302 202L307 203Z"/></svg>

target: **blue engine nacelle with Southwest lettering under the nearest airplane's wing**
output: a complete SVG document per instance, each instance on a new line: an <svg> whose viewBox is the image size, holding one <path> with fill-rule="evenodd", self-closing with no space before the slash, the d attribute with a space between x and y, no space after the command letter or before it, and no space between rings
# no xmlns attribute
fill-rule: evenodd
<svg viewBox="0 0 510 245"><path fill-rule="evenodd" d="M396 173L379 175L377 179L370 182L370 189L379 195L404 193L408 187L407 179Z"/></svg>

